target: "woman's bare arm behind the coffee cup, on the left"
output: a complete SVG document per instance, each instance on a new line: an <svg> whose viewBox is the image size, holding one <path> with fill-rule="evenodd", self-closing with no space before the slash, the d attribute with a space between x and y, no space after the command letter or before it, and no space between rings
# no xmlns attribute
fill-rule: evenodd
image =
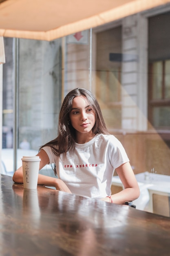
<svg viewBox="0 0 170 256"><path fill-rule="evenodd" d="M37 155L41 159L40 169L42 169L46 164L49 164L49 157L43 149L41 149ZM23 183L22 166L18 168L18 170L16 170L15 173L13 174L13 182ZM38 175L38 185L53 186L57 190L71 193L70 189L68 189L68 186L66 186L66 184L62 180L54 177L45 176L42 174Z"/></svg>

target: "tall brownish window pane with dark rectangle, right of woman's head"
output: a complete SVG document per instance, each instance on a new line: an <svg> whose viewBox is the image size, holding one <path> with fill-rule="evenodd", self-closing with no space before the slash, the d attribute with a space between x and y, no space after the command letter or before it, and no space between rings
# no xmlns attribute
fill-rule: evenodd
<svg viewBox="0 0 170 256"><path fill-rule="evenodd" d="M108 130L121 129L121 26L96 36L96 95Z"/></svg>

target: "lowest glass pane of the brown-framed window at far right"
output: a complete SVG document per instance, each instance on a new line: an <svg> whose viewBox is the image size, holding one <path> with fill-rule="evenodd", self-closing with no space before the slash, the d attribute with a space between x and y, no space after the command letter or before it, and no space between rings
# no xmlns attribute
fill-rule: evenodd
<svg viewBox="0 0 170 256"><path fill-rule="evenodd" d="M153 108L153 126L159 128L170 126L170 107Z"/></svg>

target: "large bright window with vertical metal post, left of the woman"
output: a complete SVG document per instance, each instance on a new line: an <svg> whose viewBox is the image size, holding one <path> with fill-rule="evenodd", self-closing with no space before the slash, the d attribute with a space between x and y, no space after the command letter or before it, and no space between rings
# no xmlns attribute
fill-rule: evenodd
<svg viewBox="0 0 170 256"><path fill-rule="evenodd" d="M36 155L40 146L57 137L61 43L4 38L2 167L7 175L20 167L23 155ZM41 173L53 176L49 165Z"/></svg>

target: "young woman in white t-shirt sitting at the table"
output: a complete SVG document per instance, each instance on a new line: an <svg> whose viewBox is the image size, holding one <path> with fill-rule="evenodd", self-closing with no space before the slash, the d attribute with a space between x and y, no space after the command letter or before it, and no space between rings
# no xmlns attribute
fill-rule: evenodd
<svg viewBox="0 0 170 256"><path fill-rule="evenodd" d="M62 104L58 136L41 146L40 169L55 164L58 178L40 175L38 184L107 202L124 204L139 197L139 186L128 156L115 136L110 135L94 95L82 88L69 92ZM116 169L124 190L111 195ZM22 167L13 181L23 182Z"/></svg>

